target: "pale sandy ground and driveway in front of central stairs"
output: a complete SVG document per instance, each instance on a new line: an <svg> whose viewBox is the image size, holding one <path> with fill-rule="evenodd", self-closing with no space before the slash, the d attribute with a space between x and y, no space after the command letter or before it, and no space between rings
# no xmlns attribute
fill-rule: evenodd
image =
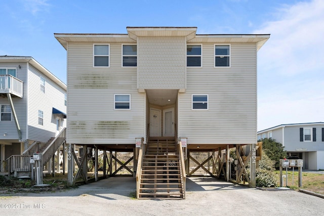
<svg viewBox="0 0 324 216"><path fill-rule="evenodd" d="M135 179L113 177L55 193L0 196L1 215L324 215L324 199L187 178L185 200L137 200Z"/></svg>

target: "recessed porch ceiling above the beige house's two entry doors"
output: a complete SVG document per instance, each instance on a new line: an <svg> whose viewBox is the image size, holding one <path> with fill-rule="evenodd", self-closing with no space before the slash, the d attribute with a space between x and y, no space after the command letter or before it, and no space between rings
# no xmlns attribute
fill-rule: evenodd
<svg viewBox="0 0 324 216"><path fill-rule="evenodd" d="M151 104L165 106L174 104L177 100L178 90L150 89L146 90L148 101Z"/></svg>

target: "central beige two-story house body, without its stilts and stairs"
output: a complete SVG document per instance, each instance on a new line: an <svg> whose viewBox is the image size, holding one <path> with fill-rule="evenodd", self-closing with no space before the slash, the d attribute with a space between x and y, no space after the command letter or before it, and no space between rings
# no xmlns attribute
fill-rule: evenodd
<svg viewBox="0 0 324 216"><path fill-rule="evenodd" d="M187 138L188 149L257 143L257 52L269 34L55 33L67 51L67 143L133 149Z"/></svg>

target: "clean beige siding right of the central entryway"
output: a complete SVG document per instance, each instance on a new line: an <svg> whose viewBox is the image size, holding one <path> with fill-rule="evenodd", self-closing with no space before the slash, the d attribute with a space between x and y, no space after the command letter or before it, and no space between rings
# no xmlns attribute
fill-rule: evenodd
<svg viewBox="0 0 324 216"><path fill-rule="evenodd" d="M231 67L214 67L214 44L203 44L202 68L187 67L179 94L179 136L188 144L257 142L256 44L231 44ZM209 110L191 110L191 95L209 96Z"/></svg>

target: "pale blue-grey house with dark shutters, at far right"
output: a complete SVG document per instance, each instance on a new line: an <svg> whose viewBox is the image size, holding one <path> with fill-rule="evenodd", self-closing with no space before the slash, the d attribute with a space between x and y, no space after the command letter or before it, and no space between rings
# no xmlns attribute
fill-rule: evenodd
<svg viewBox="0 0 324 216"><path fill-rule="evenodd" d="M258 140L272 138L288 156L304 160L304 169L324 169L324 122L281 124L258 132Z"/></svg>

